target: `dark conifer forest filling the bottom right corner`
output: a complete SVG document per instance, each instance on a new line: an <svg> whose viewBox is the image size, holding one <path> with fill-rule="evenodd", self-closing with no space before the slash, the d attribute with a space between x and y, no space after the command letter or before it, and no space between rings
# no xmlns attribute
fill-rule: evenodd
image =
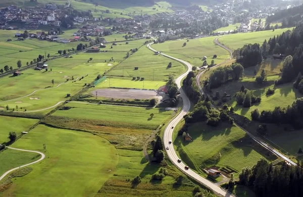
<svg viewBox="0 0 303 197"><path fill-rule="evenodd" d="M238 184L250 187L260 197L303 196L302 164L272 166L265 159L250 168L242 169Z"/></svg>

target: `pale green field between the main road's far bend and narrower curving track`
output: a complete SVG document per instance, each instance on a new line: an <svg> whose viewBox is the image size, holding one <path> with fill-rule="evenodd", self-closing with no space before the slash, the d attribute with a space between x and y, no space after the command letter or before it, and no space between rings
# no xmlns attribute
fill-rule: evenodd
<svg viewBox="0 0 303 197"><path fill-rule="evenodd" d="M207 57L208 64L211 64L213 56L215 64L219 64L229 58L229 53L214 43L216 37L204 37L199 39L166 41L161 44L154 44L153 48L176 58L188 61L194 66L201 66L203 58ZM183 43L186 42L186 46Z"/></svg>

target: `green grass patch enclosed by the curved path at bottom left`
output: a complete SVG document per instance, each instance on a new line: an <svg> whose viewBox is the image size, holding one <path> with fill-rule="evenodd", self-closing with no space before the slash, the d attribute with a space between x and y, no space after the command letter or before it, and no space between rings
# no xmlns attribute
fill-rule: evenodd
<svg viewBox="0 0 303 197"><path fill-rule="evenodd" d="M28 164L40 159L40 155L30 152L21 152L7 149L0 154L0 175L18 166ZM0 194L1 195L1 194Z"/></svg>

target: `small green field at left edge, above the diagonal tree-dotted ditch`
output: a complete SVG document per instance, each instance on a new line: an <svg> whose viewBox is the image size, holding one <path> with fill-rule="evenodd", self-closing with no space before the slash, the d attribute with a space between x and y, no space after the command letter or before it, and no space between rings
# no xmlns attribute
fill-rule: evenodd
<svg viewBox="0 0 303 197"><path fill-rule="evenodd" d="M38 120L36 119L0 116L0 144L9 141L8 137L11 131L21 135L23 131L26 131L37 122Z"/></svg>

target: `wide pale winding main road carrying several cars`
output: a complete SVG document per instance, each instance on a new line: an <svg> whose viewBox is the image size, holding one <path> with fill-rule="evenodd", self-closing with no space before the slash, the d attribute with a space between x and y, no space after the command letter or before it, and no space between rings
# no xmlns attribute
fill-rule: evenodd
<svg viewBox="0 0 303 197"><path fill-rule="evenodd" d="M147 44L147 47L154 52L157 52L156 50L154 50L154 48L150 47L150 44ZM164 135L163 135L163 143L164 146L167 147L169 146L169 150L165 149L167 152L167 155L169 157L169 159L171 160L171 162L177 167L179 168L184 174L190 176L191 178L195 179L197 182L205 185L206 187L208 187L209 189L213 190L214 193L216 193L217 195L221 195L221 196L235 196L231 193L229 193L228 191L222 189L221 187L215 185L213 182L207 180L204 177L201 177L199 174L197 174L196 172L194 172L191 169L185 170L185 164L183 162L178 163L178 155L174 149L174 145L173 144L169 144L169 141L172 141L172 136L173 136L173 127L175 127L182 119L183 116L186 115L190 109L190 102L188 97L186 96L185 92L182 90L181 88L181 80L186 77L186 75L191 71L192 65L189 64L188 62L185 62L183 60L174 58L172 56L166 55L166 54L161 54L164 57L170 58L172 60L178 61L182 64L184 64L185 66L188 67L188 70L183 73L181 76L179 76L176 79L176 84L178 85L178 88L180 89L180 97L182 97L183 100L183 108L182 111L167 125L165 131L164 131Z"/></svg>

